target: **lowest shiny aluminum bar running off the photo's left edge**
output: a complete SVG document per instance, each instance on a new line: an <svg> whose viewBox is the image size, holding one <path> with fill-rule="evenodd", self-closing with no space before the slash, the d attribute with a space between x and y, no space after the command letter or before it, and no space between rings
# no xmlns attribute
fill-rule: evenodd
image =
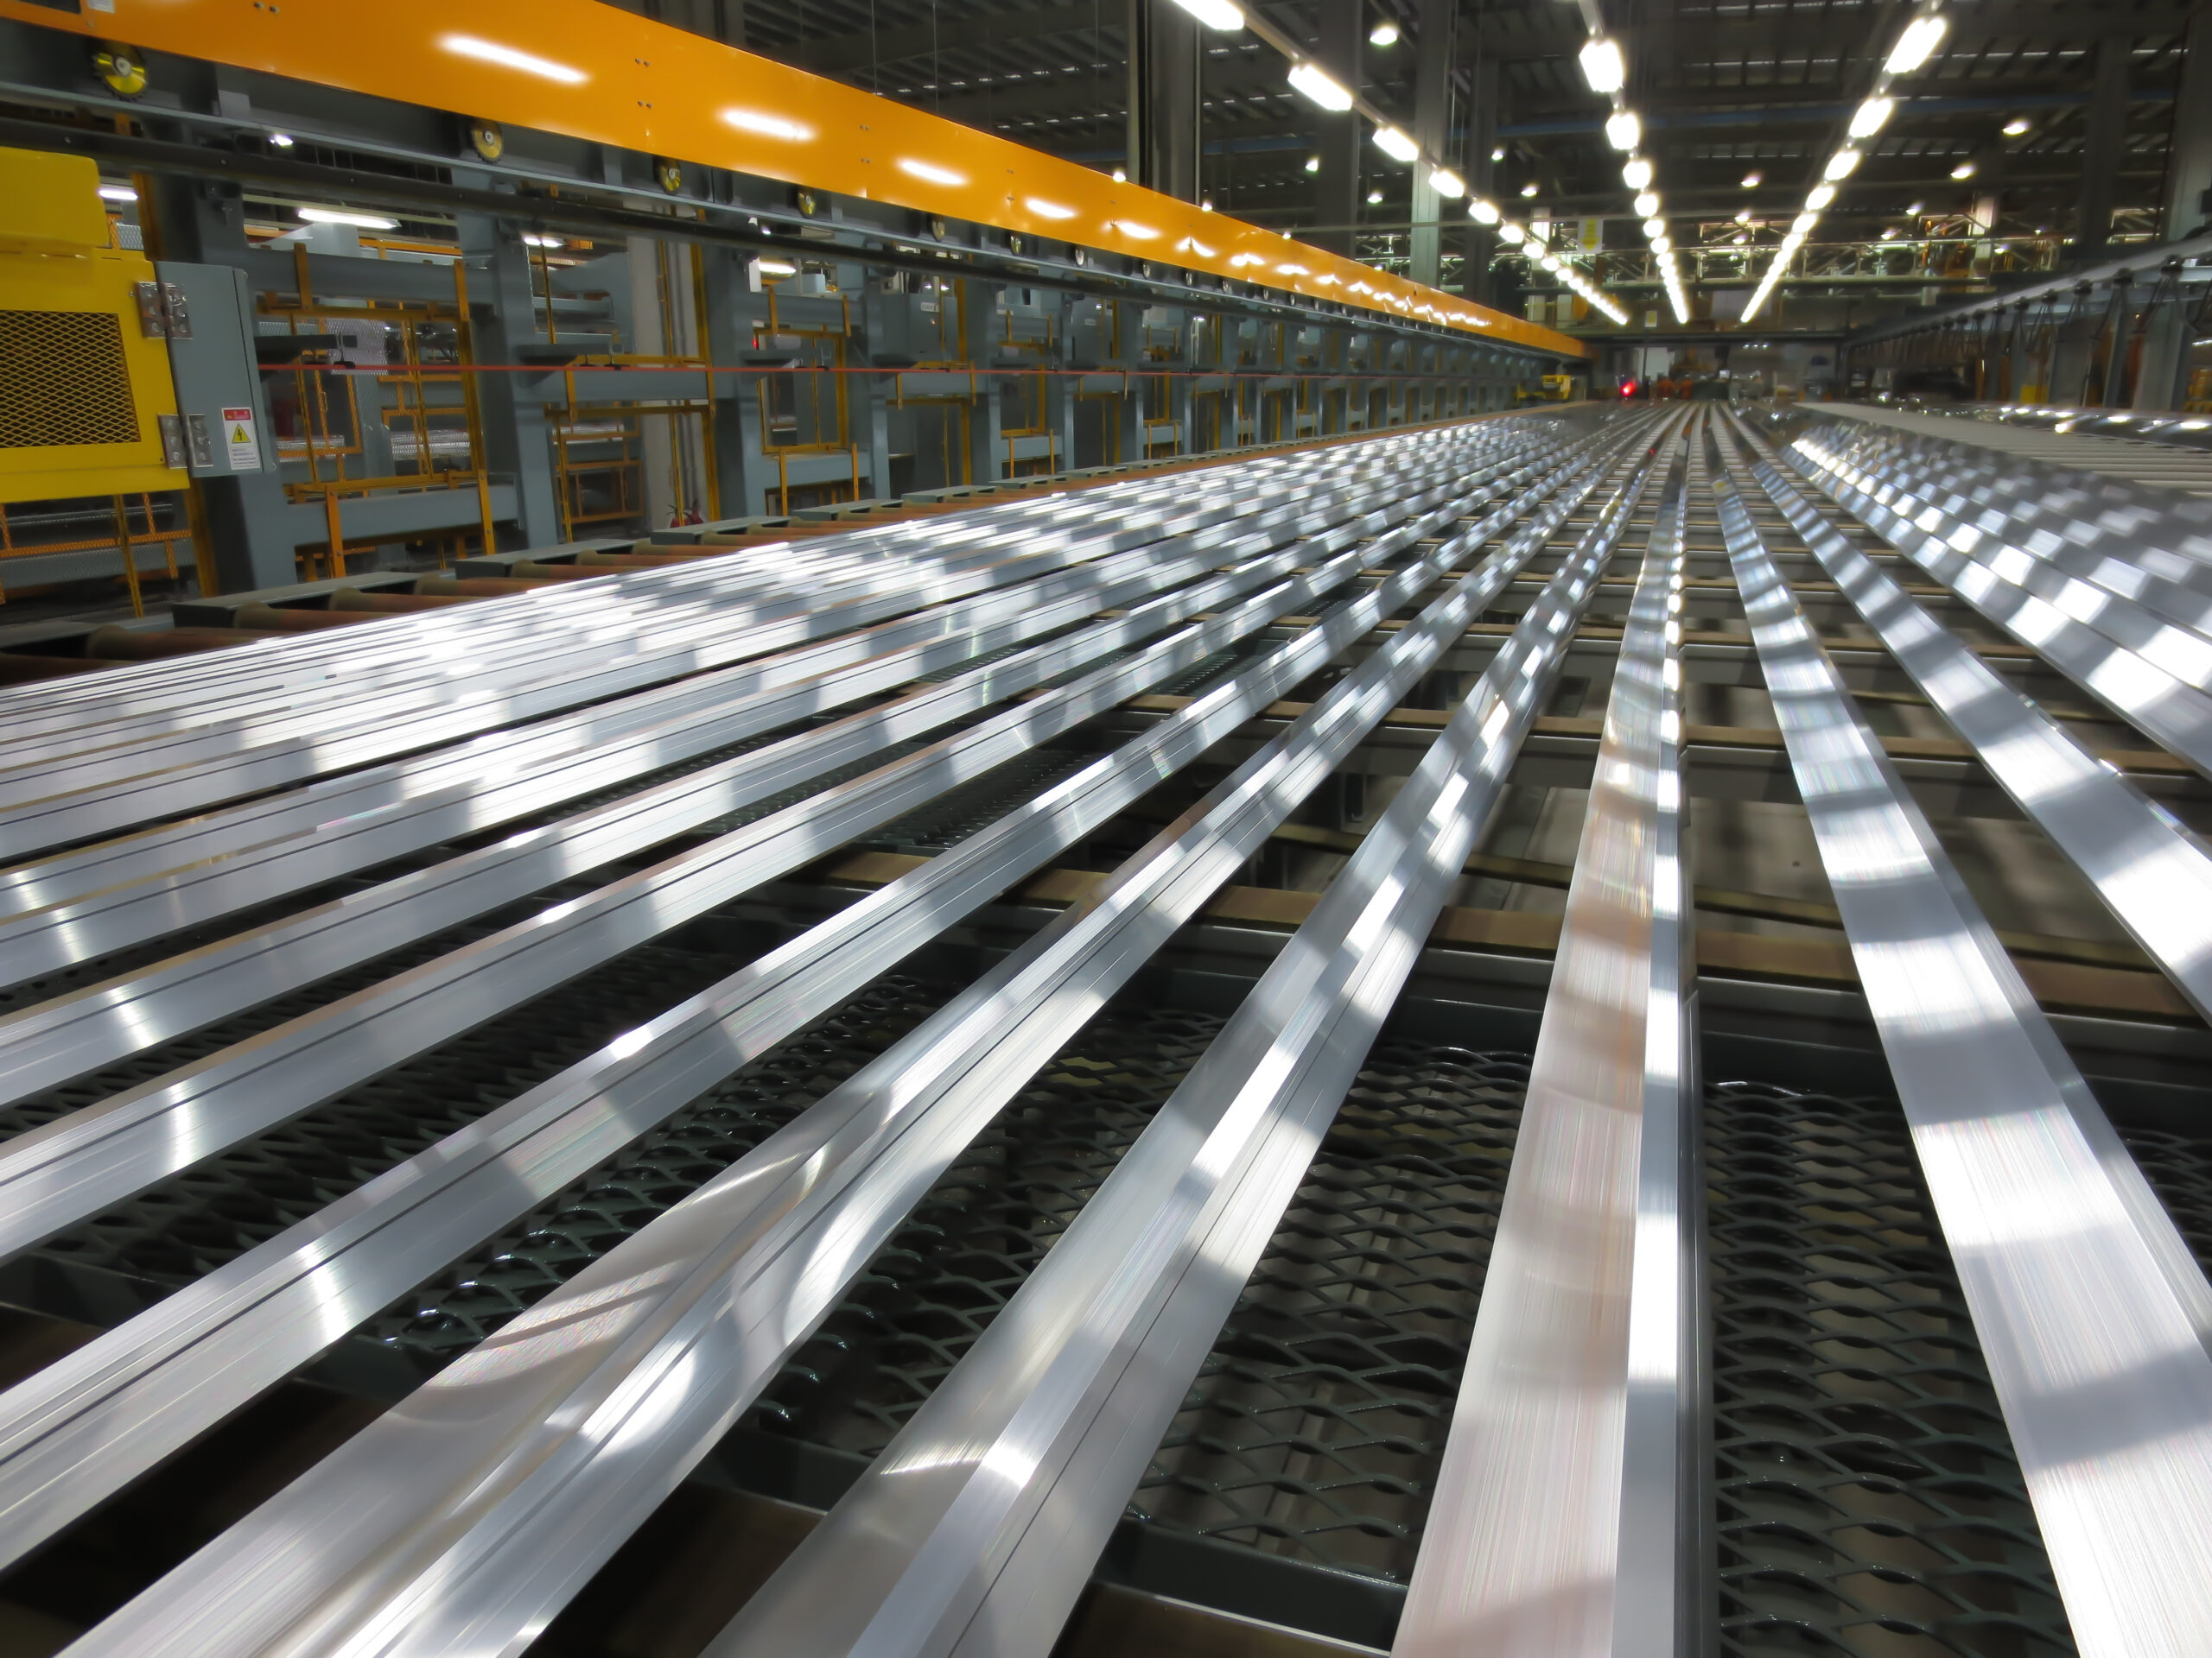
<svg viewBox="0 0 2212 1658"><path fill-rule="evenodd" d="M1279 615L1283 604L1343 586L1365 559L1394 555L1447 526L1467 500L1449 500L1296 584L1206 623L1206 648L1250 630L1254 617ZM852 995L887 962L905 957L1055 851L1095 831L1161 776L1203 754L1254 710L1363 637L1387 615L1380 606L1380 590L1338 606L1237 679L925 869L838 911L723 984L0 1395L0 1556L13 1559L33 1547L55 1525L310 1360L422 1273L557 1192L701 1088ZM1157 659L1159 650L1146 657ZM1110 683L1110 699L1119 701L1130 685L1159 672L1139 661L1079 685ZM1044 703L1020 712L1035 716L1040 710ZM774 833L781 820L781 838L801 842L794 862L818 856L854 833L854 825L843 822L825 800L834 807L841 794L860 785L790 807L763 825ZM150 1154L159 1156L157 1150Z"/></svg>

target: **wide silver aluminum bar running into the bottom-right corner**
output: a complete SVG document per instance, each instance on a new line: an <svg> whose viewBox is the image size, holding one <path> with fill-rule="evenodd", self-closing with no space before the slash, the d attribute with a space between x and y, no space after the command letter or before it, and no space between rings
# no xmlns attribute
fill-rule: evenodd
<svg viewBox="0 0 2212 1658"><path fill-rule="evenodd" d="M2212 1287L1774 568L1721 531L2084 1658L2212 1651Z"/></svg>

